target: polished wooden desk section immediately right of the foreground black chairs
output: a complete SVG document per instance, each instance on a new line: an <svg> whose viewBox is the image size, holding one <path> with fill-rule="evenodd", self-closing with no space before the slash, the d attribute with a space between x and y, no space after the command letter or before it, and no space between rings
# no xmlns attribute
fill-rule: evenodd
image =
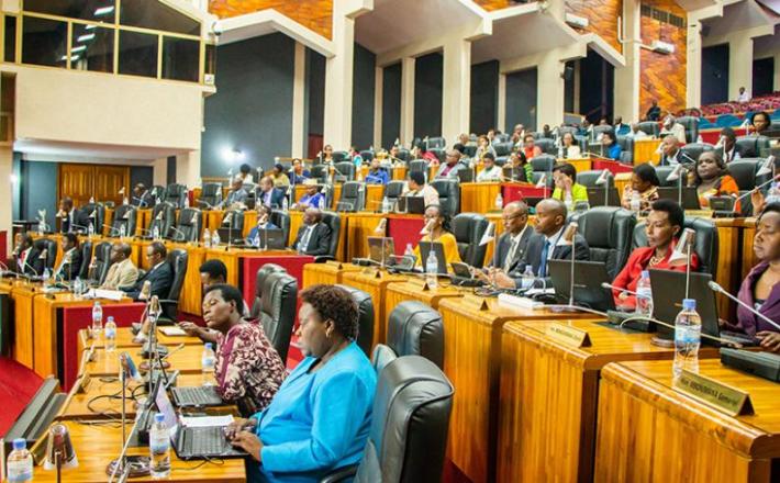
<svg viewBox="0 0 780 483"><path fill-rule="evenodd" d="M589 314L532 311L486 299L480 311L464 299L444 299L444 372L456 387L449 420L449 459L476 483L494 480L501 333L512 321L590 318Z"/></svg>

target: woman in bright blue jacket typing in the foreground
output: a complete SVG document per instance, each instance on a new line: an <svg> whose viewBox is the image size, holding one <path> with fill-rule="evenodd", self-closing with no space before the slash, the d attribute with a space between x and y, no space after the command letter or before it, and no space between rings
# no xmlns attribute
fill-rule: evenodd
<svg viewBox="0 0 780 483"><path fill-rule="evenodd" d="M305 358L265 411L227 429L254 459L250 482L317 482L357 463L370 430L377 374L355 342L357 305L336 285L313 285L300 297Z"/></svg>

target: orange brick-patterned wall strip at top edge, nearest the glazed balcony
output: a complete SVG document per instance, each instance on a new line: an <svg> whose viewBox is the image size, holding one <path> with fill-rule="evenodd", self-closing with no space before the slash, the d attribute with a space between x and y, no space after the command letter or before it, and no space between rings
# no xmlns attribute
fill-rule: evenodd
<svg viewBox="0 0 780 483"><path fill-rule="evenodd" d="M331 38L334 0L209 0L209 11L221 19L274 9L317 34Z"/></svg>

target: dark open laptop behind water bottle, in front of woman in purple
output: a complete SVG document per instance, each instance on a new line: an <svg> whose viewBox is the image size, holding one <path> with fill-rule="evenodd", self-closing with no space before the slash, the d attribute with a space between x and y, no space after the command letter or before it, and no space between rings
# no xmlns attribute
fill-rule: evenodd
<svg viewBox="0 0 780 483"><path fill-rule="evenodd" d="M755 346L757 339L745 334L721 333L717 323L715 292L710 289L710 281L712 281L710 273L693 272L688 287L689 299L697 301L697 312L702 319L702 333L734 340L745 346ZM686 273L672 270L650 270L650 288L653 289L653 317L673 326L677 314L682 311L682 299L686 297ZM658 335L673 340L675 329L659 325ZM712 339L704 337L702 337L702 344L717 345Z"/></svg>

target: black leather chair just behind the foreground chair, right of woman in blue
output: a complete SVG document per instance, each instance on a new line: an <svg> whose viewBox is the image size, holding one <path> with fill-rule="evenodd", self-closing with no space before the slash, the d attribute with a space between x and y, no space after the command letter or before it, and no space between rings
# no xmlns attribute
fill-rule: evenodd
<svg viewBox="0 0 780 483"><path fill-rule="evenodd" d="M377 373L398 357L422 356L444 369L444 323L442 314L419 301L395 305L388 316L387 344L371 355Z"/></svg>

